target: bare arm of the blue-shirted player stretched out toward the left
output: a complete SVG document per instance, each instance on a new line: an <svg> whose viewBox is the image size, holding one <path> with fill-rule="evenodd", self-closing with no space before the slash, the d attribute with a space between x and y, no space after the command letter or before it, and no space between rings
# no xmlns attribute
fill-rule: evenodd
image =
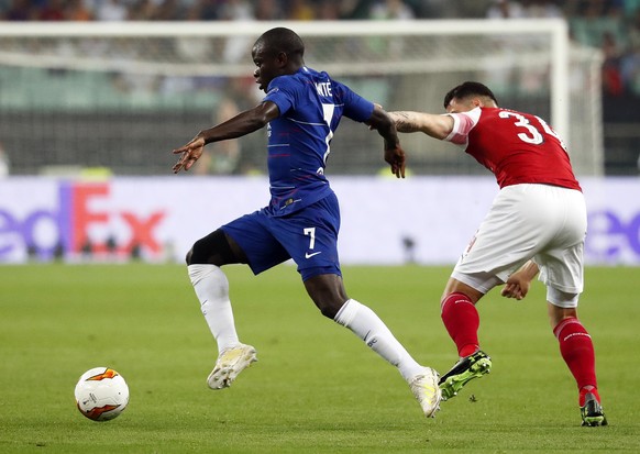
<svg viewBox="0 0 640 454"><path fill-rule="evenodd" d="M212 142L242 137L264 128L278 115L278 107L274 102L266 101L213 128L200 131L189 143L174 150L174 154L180 155L180 158L173 168L174 174L177 174L181 169L189 170L196 160L202 156L205 145Z"/></svg>

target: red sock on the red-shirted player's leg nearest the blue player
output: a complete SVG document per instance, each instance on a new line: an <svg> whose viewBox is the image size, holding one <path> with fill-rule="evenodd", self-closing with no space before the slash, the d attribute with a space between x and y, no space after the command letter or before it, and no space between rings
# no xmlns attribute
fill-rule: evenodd
<svg viewBox="0 0 640 454"><path fill-rule="evenodd" d="M460 356L468 356L479 347L479 315L475 304L464 294L450 294L442 301L442 321Z"/></svg>

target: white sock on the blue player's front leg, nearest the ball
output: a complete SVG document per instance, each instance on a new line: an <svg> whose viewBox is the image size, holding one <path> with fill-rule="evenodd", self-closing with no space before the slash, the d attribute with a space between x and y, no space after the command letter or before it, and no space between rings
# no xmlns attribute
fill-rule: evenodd
<svg viewBox="0 0 640 454"><path fill-rule="evenodd" d="M189 278L200 309L218 343L218 352L240 343L229 300L229 280L216 265L189 265Z"/></svg>

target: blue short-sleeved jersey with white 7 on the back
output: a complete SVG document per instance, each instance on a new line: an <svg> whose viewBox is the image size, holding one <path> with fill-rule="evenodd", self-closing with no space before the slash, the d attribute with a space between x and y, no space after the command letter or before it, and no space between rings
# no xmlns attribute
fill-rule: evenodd
<svg viewBox="0 0 640 454"><path fill-rule="evenodd" d="M327 73L307 67L274 78L264 101L274 102L280 112L267 125L267 212L282 217L332 193L324 166L338 124L343 115L368 120L374 104Z"/></svg>

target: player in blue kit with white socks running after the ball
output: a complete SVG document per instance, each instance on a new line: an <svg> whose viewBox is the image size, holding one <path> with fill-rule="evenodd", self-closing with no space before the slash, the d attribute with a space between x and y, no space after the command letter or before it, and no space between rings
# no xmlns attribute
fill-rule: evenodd
<svg viewBox="0 0 640 454"><path fill-rule="evenodd" d="M253 109L201 131L174 150L174 173L188 170L206 144L243 136L267 126L271 202L198 240L187 254L191 284L218 344L218 361L208 377L211 389L229 387L257 361L253 346L240 342L229 299L228 264L249 264L254 274L293 258L307 292L321 313L349 328L396 366L424 416L439 409L438 374L418 364L376 313L346 296L338 257L340 210L324 177L329 145L342 117L367 124L384 139L385 160L405 176L405 153L396 128L379 106L304 62L305 45L289 29L265 32L252 49L260 89Z"/></svg>

